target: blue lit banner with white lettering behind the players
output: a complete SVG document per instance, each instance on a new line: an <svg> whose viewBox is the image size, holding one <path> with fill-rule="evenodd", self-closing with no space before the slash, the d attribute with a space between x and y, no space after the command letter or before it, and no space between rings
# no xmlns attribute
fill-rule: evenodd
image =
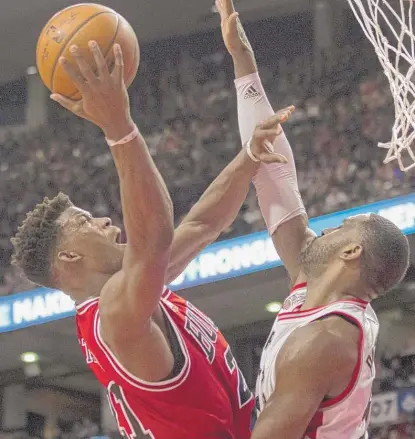
<svg viewBox="0 0 415 439"><path fill-rule="evenodd" d="M317 233L337 227L345 218L374 212L393 221L406 235L415 233L415 194L380 201L310 220ZM173 290L243 276L281 265L267 232L210 245L170 285ZM69 317L74 303L62 292L37 288L0 298L0 333Z"/></svg>

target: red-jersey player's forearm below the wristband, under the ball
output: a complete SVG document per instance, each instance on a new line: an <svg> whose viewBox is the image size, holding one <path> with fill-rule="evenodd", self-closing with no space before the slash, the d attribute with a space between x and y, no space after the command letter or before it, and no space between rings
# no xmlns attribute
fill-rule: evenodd
<svg viewBox="0 0 415 439"><path fill-rule="evenodd" d="M118 134L113 138L121 137ZM169 247L173 236L172 202L145 140L139 134L129 143L111 147L111 152L120 179L129 246L138 248L141 254Z"/></svg>

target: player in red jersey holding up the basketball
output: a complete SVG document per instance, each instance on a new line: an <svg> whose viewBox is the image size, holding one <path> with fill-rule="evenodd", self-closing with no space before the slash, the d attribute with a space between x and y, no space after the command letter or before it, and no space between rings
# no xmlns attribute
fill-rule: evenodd
<svg viewBox="0 0 415 439"><path fill-rule="evenodd" d="M85 359L108 389L123 436L248 439L254 401L229 345L208 317L164 285L231 224L255 161L286 161L264 141L275 139L292 108L256 131L251 149L235 158L173 232L169 194L130 117L121 50L115 46L109 72L96 43L90 48L97 75L77 47L77 67L60 60L82 102L52 98L107 138L128 242L118 243L120 231L110 219L93 218L59 194L27 215L13 239L14 261L30 280L76 301Z"/></svg>

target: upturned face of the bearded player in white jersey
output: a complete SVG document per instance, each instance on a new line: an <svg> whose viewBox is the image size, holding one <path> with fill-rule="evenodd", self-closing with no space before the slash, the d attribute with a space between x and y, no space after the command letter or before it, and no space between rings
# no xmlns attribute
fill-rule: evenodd
<svg viewBox="0 0 415 439"><path fill-rule="evenodd" d="M337 260L347 246L360 244L359 225L367 219L367 215L346 218L340 226L325 229L320 236L308 241L300 254L305 273L320 274Z"/></svg>

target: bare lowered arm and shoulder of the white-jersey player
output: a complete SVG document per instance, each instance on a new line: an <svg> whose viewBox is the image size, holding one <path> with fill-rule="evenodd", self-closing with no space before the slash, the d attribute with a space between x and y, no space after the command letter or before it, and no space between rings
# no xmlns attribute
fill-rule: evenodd
<svg viewBox="0 0 415 439"><path fill-rule="evenodd" d="M343 325L350 326L347 336L339 332L344 331ZM274 392L251 439L306 437L320 405L327 397L340 395L353 379L359 359L358 339L359 329L340 317L297 329L278 354ZM261 399L262 394L257 397Z"/></svg>

